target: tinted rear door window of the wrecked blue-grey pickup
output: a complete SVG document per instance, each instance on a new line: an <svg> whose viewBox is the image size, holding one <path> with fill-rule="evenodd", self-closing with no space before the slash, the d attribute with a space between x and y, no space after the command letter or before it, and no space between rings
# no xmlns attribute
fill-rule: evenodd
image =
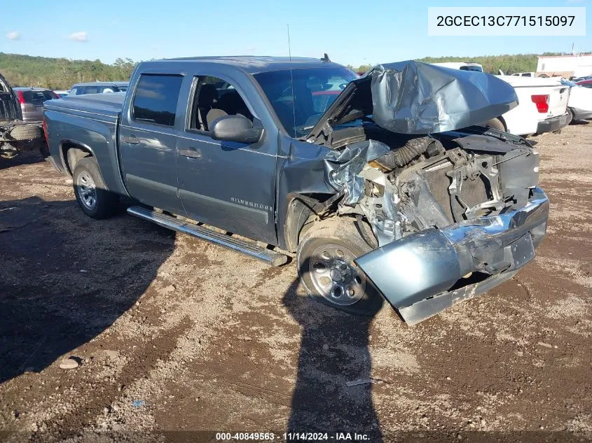
<svg viewBox="0 0 592 443"><path fill-rule="evenodd" d="M174 126L183 76L142 74L134 95L132 120Z"/></svg>

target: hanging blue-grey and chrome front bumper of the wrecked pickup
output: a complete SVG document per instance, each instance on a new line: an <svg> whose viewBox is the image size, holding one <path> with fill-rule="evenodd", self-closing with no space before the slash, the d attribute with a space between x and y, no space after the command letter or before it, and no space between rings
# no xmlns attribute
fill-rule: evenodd
<svg viewBox="0 0 592 443"><path fill-rule="evenodd" d="M511 279L534 258L548 217L535 188L521 208L411 234L355 262L413 325Z"/></svg>

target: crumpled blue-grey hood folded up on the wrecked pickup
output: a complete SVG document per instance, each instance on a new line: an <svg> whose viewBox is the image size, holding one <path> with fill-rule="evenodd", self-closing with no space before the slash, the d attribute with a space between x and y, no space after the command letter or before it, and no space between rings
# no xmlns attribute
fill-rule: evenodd
<svg viewBox="0 0 592 443"><path fill-rule="evenodd" d="M373 120L401 134L480 125L518 104L514 87L482 72L407 61L378 65L367 76Z"/></svg>

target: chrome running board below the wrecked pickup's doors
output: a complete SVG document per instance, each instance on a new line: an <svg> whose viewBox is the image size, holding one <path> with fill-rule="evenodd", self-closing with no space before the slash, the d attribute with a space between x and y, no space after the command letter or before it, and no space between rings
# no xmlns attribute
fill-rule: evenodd
<svg viewBox="0 0 592 443"><path fill-rule="evenodd" d="M149 220L152 223L156 223L159 226L167 227L170 230L177 232L183 232L184 234L193 235L198 239L211 241L214 244L224 246L225 248L238 251L243 254L251 255L251 257L263 260L271 266L284 265L288 258L282 253L272 251L261 246L257 246L249 241L235 239L230 235L222 234L214 230L208 229L200 225L194 225L186 221L179 220L172 216L167 216L164 213L157 213L150 209L143 208L142 206L130 206L128 208L128 214L144 220Z"/></svg>

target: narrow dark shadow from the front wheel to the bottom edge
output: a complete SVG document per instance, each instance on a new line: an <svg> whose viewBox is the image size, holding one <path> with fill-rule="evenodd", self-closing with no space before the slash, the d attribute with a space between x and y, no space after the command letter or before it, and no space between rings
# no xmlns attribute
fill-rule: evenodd
<svg viewBox="0 0 592 443"><path fill-rule="evenodd" d="M358 433L381 442L372 384L346 384L371 378L369 327L380 306L367 317L345 314L298 295L298 282L282 300L302 327L288 432Z"/></svg>

